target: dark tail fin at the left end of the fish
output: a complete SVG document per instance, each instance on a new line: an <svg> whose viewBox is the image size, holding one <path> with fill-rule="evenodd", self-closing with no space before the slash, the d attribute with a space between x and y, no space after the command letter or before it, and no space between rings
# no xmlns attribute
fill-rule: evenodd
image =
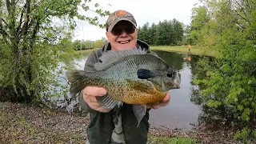
<svg viewBox="0 0 256 144"><path fill-rule="evenodd" d="M71 70L66 71L66 78L70 85L70 95L78 94L83 88L86 87L86 71L84 70Z"/></svg>

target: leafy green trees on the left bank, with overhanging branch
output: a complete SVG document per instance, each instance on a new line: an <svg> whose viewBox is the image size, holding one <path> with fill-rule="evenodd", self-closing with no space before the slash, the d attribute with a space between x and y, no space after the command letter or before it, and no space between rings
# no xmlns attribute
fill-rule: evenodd
<svg viewBox="0 0 256 144"><path fill-rule="evenodd" d="M58 87L65 86L59 86L56 77L62 77L62 72L56 68L64 70L58 54L74 50L70 38L75 20L104 27L98 16L84 15L88 10L100 17L110 14L90 1L1 1L1 101L38 102L66 95L66 91L58 93Z"/></svg>

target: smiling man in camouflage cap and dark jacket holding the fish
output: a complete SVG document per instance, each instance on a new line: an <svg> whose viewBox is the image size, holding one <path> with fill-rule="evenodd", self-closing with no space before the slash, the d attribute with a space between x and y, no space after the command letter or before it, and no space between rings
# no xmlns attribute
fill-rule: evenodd
<svg viewBox="0 0 256 144"><path fill-rule="evenodd" d="M141 47L148 53L150 46L138 40L137 22L134 16L125 10L117 10L107 19L106 38L108 42L100 50L94 50L86 60L85 70L95 70L94 63L106 50L127 50ZM123 104L119 113L114 110L103 109L95 97L106 95L106 90L101 87L87 86L80 93L79 103L83 110L90 112L90 124L87 127L87 143L138 143L146 144L149 130L149 111L151 108L158 109L170 102L170 94L166 95L161 102L149 104L146 116L138 126L131 105ZM137 127L138 126L138 127Z"/></svg>

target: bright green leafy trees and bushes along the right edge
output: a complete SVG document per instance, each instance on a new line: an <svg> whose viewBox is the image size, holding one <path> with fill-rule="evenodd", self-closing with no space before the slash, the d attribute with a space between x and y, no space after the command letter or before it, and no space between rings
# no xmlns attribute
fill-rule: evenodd
<svg viewBox="0 0 256 144"><path fill-rule="evenodd" d="M207 106L224 107L236 126L256 124L256 2L202 1L194 8L190 37L199 46L219 50L216 59L204 59L194 83L202 85ZM207 43L211 43L206 45ZM204 77L200 74L205 73ZM246 131L237 138L246 138Z"/></svg>

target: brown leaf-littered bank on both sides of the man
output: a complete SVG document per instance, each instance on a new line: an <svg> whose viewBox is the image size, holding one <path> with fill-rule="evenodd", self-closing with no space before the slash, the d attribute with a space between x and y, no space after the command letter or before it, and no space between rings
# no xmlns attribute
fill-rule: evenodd
<svg viewBox="0 0 256 144"><path fill-rule="evenodd" d="M66 110L51 110L44 106L0 102L0 143L83 143L89 122L90 119L81 112L68 114ZM186 132L154 126L150 126L149 130L151 139L190 138L202 143L240 143L234 140L232 134L232 130L206 130L206 127ZM163 142L166 141L163 139Z"/></svg>

